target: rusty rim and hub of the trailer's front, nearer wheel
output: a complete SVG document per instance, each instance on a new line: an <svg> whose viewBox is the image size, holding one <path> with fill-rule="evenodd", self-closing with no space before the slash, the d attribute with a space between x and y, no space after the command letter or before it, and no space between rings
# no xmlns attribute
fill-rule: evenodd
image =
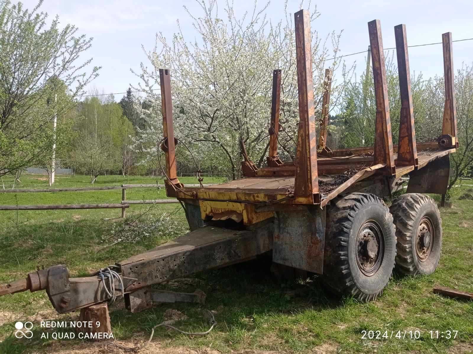
<svg viewBox="0 0 473 354"><path fill-rule="evenodd" d="M384 236L374 220L366 221L358 231L356 261L359 270L371 276L377 272L384 257Z"/></svg>

